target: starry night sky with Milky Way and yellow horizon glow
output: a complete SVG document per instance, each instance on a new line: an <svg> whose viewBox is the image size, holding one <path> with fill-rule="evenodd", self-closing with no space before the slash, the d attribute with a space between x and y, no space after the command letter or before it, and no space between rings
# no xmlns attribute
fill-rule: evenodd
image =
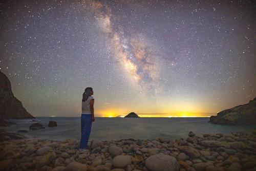
<svg viewBox="0 0 256 171"><path fill-rule="evenodd" d="M33 116L216 115L256 97L253 1L2 1L0 68Z"/></svg>

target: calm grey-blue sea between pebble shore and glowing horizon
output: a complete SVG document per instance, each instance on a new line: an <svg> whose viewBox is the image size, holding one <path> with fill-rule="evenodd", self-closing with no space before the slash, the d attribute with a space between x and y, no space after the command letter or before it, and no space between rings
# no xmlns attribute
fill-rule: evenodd
<svg viewBox="0 0 256 171"><path fill-rule="evenodd" d="M45 129L29 130L36 121L32 119L11 120L16 125L4 129L17 133L17 130L27 130L22 133L28 138L38 139L80 139L79 117L37 117L35 120L44 124ZM50 120L57 122L57 127L48 127ZM90 140L119 139L167 139L186 138L189 131L196 135L230 134L231 132L248 132L256 130L253 126L218 125L208 123L209 118L95 118L92 123Z"/></svg>

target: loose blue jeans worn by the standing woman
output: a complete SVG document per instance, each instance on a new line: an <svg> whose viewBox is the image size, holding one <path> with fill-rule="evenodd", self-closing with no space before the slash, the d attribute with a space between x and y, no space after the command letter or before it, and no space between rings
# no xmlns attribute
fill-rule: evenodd
<svg viewBox="0 0 256 171"><path fill-rule="evenodd" d="M92 115L81 115L81 141L80 148L86 148L91 134Z"/></svg>

